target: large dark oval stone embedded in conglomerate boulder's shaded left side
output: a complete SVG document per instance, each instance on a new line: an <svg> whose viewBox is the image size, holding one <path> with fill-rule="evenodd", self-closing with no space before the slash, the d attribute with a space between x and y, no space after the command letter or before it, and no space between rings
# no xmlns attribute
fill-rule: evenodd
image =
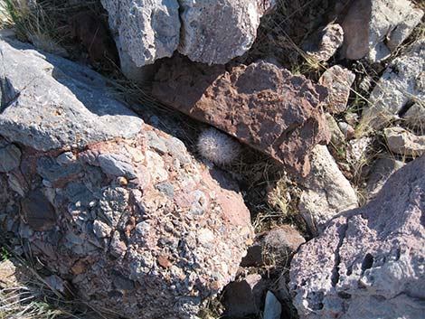
<svg viewBox="0 0 425 319"><path fill-rule="evenodd" d="M21 201L21 211L24 222L33 230L52 230L56 225L57 217L52 204L38 190L25 196Z"/></svg>

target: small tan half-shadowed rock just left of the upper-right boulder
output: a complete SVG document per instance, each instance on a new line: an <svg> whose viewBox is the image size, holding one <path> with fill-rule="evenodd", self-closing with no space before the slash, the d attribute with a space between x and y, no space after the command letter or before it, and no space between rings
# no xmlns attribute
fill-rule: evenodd
<svg viewBox="0 0 425 319"><path fill-rule="evenodd" d="M303 50L316 63L326 62L332 58L344 42L344 30L338 23L329 23L326 27L313 33L307 42L303 43Z"/></svg>

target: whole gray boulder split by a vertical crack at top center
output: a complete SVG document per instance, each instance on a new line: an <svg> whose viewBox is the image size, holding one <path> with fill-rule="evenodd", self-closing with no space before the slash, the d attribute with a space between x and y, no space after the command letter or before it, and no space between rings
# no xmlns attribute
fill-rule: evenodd
<svg viewBox="0 0 425 319"><path fill-rule="evenodd" d="M101 0L108 10L124 73L178 51L193 61L224 64L250 50L260 18L276 0Z"/></svg>

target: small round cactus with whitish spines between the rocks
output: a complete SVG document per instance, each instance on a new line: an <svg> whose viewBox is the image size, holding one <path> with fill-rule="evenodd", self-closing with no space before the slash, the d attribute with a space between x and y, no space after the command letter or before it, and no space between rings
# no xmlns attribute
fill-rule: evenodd
<svg viewBox="0 0 425 319"><path fill-rule="evenodd" d="M241 153L241 145L215 128L208 128L198 137L199 153L217 165L231 164Z"/></svg>

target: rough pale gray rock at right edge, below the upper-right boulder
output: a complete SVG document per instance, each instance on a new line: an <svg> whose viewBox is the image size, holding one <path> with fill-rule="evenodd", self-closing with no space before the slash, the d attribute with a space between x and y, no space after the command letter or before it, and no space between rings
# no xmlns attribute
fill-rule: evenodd
<svg viewBox="0 0 425 319"><path fill-rule="evenodd" d="M379 128L394 117L402 117L405 108L415 102L422 103L422 108L417 108L414 114L416 120L411 117L410 123L419 123L420 117L425 117L424 100L425 40L419 40L384 71L371 93L372 106L364 112L362 123L365 127ZM411 113L407 112L406 116L409 117Z"/></svg>

